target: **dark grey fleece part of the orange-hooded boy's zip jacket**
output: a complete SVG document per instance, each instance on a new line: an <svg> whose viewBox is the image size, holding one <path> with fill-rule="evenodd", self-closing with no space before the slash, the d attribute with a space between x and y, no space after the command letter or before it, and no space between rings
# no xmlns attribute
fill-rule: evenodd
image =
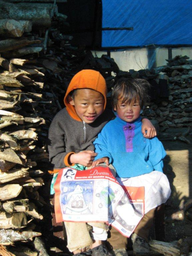
<svg viewBox="0 0 192 256"><path fill-rule="evenodd" d="M94 150L93 141L103 126L114 117L106 109L92 124L76 121L63 108L53 118L49 129L49 158L53 169L66 167L64 158L70 152Z"/></svg>

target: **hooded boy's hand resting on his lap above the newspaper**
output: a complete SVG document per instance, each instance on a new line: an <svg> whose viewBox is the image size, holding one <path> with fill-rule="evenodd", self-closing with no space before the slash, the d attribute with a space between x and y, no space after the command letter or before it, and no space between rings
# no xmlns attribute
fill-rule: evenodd
<svg viewBox="0 0 192 256"><path fill-rule="evenodd" d="M97 153L94 153L92 150L84 150L79 153L70 155L71 164L82 164L86 167L90 167L93 163L93 160L97 156Z"/></svg>

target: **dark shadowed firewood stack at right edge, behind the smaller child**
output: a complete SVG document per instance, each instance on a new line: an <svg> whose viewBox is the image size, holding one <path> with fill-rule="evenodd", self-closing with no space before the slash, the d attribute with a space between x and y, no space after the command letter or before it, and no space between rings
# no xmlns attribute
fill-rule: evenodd
<svg viewBox="0 0 192 256"><path fill-rule="evenodd" d="M152 70L158 74L156 81L167 80L169 89L169 98L152 104L145 111L148 117L157 119L161 131L167 127L192 126L192 61L188 59L187 56L177 56L172 60L167 60L167 66ZM160 71L164 74L159 74Z"/></svg>

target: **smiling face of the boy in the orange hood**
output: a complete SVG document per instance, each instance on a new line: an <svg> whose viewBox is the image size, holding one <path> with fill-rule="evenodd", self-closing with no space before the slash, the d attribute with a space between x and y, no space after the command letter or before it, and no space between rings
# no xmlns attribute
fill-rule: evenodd
<svg viewBox="0 0 192 256"><path fill-rule="evenodd" d="M74 99L69 98L69 103L75 107L75 111L82 121L91 124L102 114L105 100L100 92L79 89Z"/></svg>

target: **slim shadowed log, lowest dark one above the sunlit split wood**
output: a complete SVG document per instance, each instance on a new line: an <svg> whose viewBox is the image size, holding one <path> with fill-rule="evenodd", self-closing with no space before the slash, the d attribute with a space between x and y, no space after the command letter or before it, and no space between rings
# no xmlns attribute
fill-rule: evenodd
<svg viewBox="0 0 192 256"><path fill-rule="evenodd" d="M3 52L2 56L5 58L17 58L23 55L41 52L42 49L42 47L23 47L14 51Z"/></svg>

